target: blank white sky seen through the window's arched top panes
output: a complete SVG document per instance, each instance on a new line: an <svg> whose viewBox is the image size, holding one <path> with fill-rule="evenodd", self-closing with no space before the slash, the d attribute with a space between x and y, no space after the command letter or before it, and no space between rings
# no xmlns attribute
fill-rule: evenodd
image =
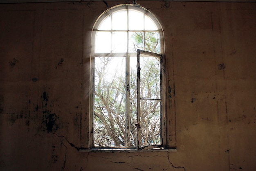
<svg viewBox="0 0 256 171"><path fill-rule="evenodd" d="M129 52L134 52L135 41L132 39L134 31L158 32L154 22L147 15L131 9L128 10L128 15L126 9L112 13L101 22L98 30L95 40L96 53L126 53L127 44Z"/></svg>

